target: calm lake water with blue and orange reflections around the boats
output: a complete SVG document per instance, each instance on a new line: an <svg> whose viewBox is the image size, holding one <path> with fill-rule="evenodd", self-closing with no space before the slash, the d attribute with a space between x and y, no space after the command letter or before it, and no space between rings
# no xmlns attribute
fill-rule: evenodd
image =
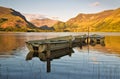
<svg viewBox="0 0 120 79"><path fill-rule="evenodd" d="M54 52L65 54L51 60L49 73L46 61L26 61L26 41L82 34L86 33L0 33L0 79L120 79L120 33L98 33L105 35L105 46Z"/></svg>

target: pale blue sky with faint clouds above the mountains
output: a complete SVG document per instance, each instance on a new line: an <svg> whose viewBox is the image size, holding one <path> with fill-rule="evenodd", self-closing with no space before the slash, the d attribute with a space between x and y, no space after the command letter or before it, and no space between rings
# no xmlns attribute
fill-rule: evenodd
<svg viewBox="0 0 120 79"><path fill-rule="evenodd" d="M97 13L120 8L120 0L0 0L0 6L20 13L40 14L67 21L79 13Z"/></svg>

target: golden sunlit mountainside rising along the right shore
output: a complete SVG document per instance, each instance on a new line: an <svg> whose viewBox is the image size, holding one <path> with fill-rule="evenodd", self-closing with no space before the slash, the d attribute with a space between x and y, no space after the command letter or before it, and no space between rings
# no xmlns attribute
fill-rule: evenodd
<svg viewBox="0 0 120 79"><path fill-rule="evenodd" d="M61 27L55 24L54 27ZM62 26L63 27L63 26ZM120 32L120 8L106 10L95 14L79 14L64 23L64 30L79 31L103 31Z"/></svg>

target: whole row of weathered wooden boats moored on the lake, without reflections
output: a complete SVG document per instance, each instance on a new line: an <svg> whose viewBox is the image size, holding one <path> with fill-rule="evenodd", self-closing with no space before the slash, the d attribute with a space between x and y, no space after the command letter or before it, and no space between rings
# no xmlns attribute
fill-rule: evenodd
<svg viewBox="0 0 120 79"><path fill-rule="evenodd" d="M88 39L90 42L88 42ZM104 36L100 36L97 34L93 35L78 35L78 36L63 36L63 37L56 37L50 39L43 39L43 40L33 40L26 42L26 45L30 52L50 52L53 50L59 50L63 48L72 48L75 46L82 46L90 44L104 44ZM87 42L86 42L87 40Z"/></svg>

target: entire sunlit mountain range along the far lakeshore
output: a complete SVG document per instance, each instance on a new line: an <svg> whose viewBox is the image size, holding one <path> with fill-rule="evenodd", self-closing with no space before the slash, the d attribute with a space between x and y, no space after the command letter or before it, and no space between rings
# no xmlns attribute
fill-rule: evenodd
<svg viewBox="0 0 120 79"><path fill-rule="evenodd" d="M93 14L79 13L66 22L42 15L38 19L32 17L28 21L20 12L0 6L0 31L120 32L120 8Z"/></svg>

